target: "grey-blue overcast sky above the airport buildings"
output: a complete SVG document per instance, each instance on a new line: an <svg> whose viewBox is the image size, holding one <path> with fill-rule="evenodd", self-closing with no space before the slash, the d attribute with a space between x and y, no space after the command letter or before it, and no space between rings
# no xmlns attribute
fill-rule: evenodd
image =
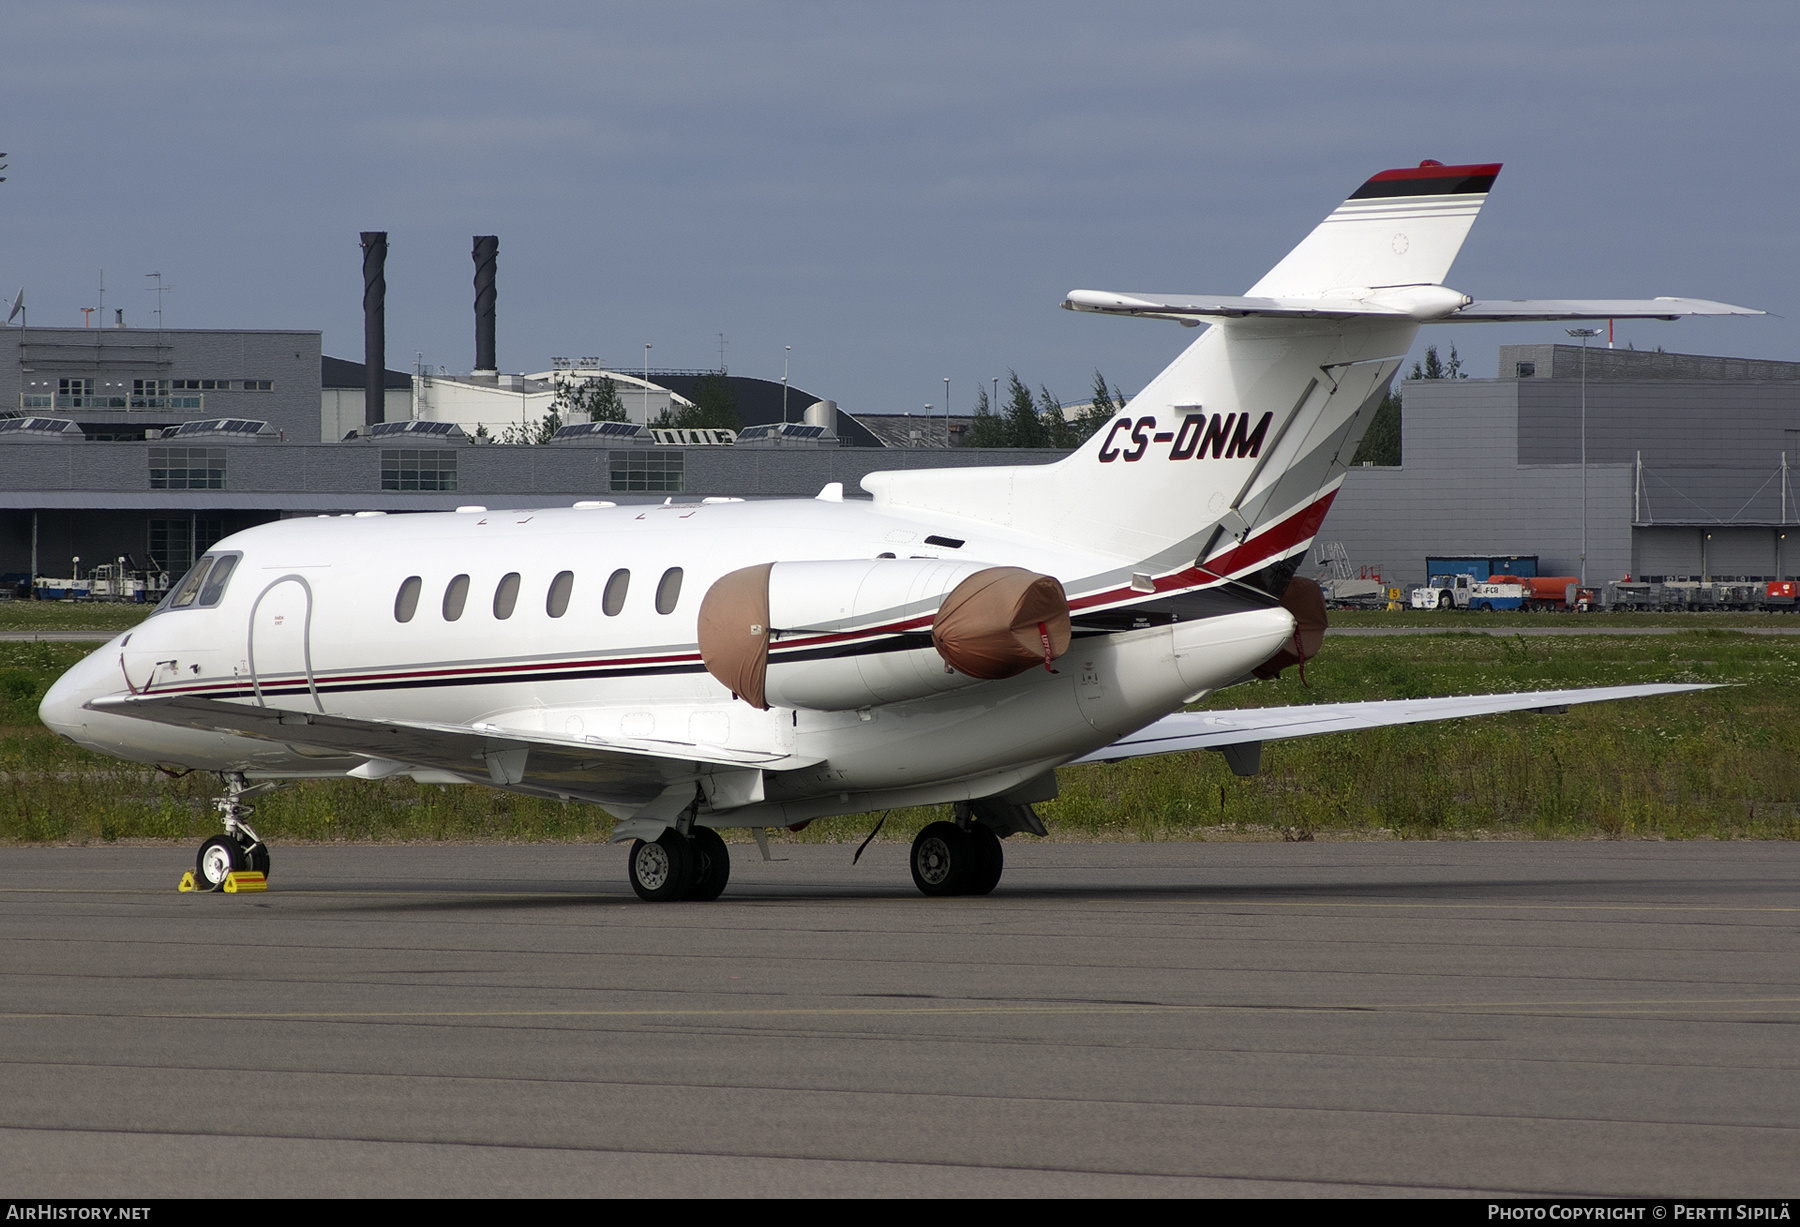
<svg viewBox="0 0 1800 1227"><path fill-rule="evenodd" d="M302 327L781 376L967 412L1017 369L1136 390L1193 333L1067 290L1242 293L1373 171L1505 162L1449 284L1787 318L1618 342L1800 358L1800 5L11 4L0 286L34 326ZM1557 326L1442 326L1474 374Z"/></svg>

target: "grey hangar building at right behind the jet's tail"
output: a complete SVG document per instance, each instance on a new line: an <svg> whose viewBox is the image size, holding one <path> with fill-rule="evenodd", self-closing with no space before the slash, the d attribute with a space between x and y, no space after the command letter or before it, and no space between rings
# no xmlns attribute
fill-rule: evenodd
<svg viewBox="0 0 1800 1227"><path fill-rule="evenodd" d="M1589 347L1586 363L1588 583L1793 578L1800 362ZM1580 576L1582 351L1501 345L1498 369L1400 381L1400 464L1352 468L1319 542L1390 585L1426 583L1427 556Z"/></svg>

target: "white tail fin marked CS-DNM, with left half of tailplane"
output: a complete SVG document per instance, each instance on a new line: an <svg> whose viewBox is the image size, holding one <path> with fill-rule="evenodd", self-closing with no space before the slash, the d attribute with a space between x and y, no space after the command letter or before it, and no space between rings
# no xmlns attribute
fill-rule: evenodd
<svg viewBox="0 0 1800 1227"><path fill-rule="evenodd" d="M871 473L878 504L1003 524L1118 558L1156 590L1244 578L1280 592L1312 543L1496 164L1382 171L1247 297L1076 291L1075 309L1217 320L1057 464Z"/></svg>

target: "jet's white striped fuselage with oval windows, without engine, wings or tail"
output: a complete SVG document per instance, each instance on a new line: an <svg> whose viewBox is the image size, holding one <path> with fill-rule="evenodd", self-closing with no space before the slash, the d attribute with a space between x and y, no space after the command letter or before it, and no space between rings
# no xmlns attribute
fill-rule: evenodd
<svg viewBox="0 0 1800 1227"><path fill-rule="evenodd" d="M760 752L774 770L742 820L805 820L1004 790L1244 676L1292 633L1285 610L1192 567L1145 592L1141 574L1132 587L1129 560L862 500L320 516L209 551L232 556L221 590L189 585L184 603L178 585L157 615L59 680L43 700L45 723L112 756L256 777L342 775L365 759L86 705L117 693L198 694L603 745ZM702 666L695 615L720 576L776 560L1024 567L1062 581L1076 637L1055 666L999 682L841 711L756 711ZM877 610L828 633L790 635L770 667L931 653L920 642L929 624L929 608ZM619 811L646 801L574 795Z"/></svg>

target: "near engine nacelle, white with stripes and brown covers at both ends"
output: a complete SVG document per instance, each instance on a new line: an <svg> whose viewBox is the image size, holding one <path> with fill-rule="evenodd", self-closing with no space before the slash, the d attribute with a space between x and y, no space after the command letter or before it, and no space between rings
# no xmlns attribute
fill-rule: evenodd
<svg viewBox="0 0 1800 1227"><path fill-rule="evenodd" d="M927 698L1055 660L1062 585L940 558L763 563L700 603L700 658L747 703L855 711Z"/></svg>

